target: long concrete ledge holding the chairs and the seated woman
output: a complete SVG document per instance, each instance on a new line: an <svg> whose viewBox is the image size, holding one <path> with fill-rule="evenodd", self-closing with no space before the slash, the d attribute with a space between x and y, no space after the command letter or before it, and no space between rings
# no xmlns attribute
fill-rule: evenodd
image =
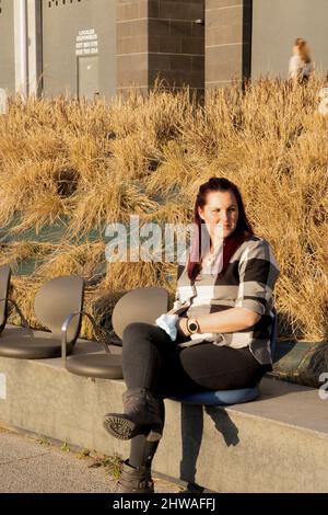
<svg viewBox="0 0 328 515"><path fill-rule="evenodd" d="M4 424L107 455L128 454L129 443L110 438L102 426L104 413L121 410L122 381L74 376L59 358L3 357L0 380ZM218 492L328 491L328 400L317 390L263 379L260 398L247 404L165 404L157 472Z"/></svg>

